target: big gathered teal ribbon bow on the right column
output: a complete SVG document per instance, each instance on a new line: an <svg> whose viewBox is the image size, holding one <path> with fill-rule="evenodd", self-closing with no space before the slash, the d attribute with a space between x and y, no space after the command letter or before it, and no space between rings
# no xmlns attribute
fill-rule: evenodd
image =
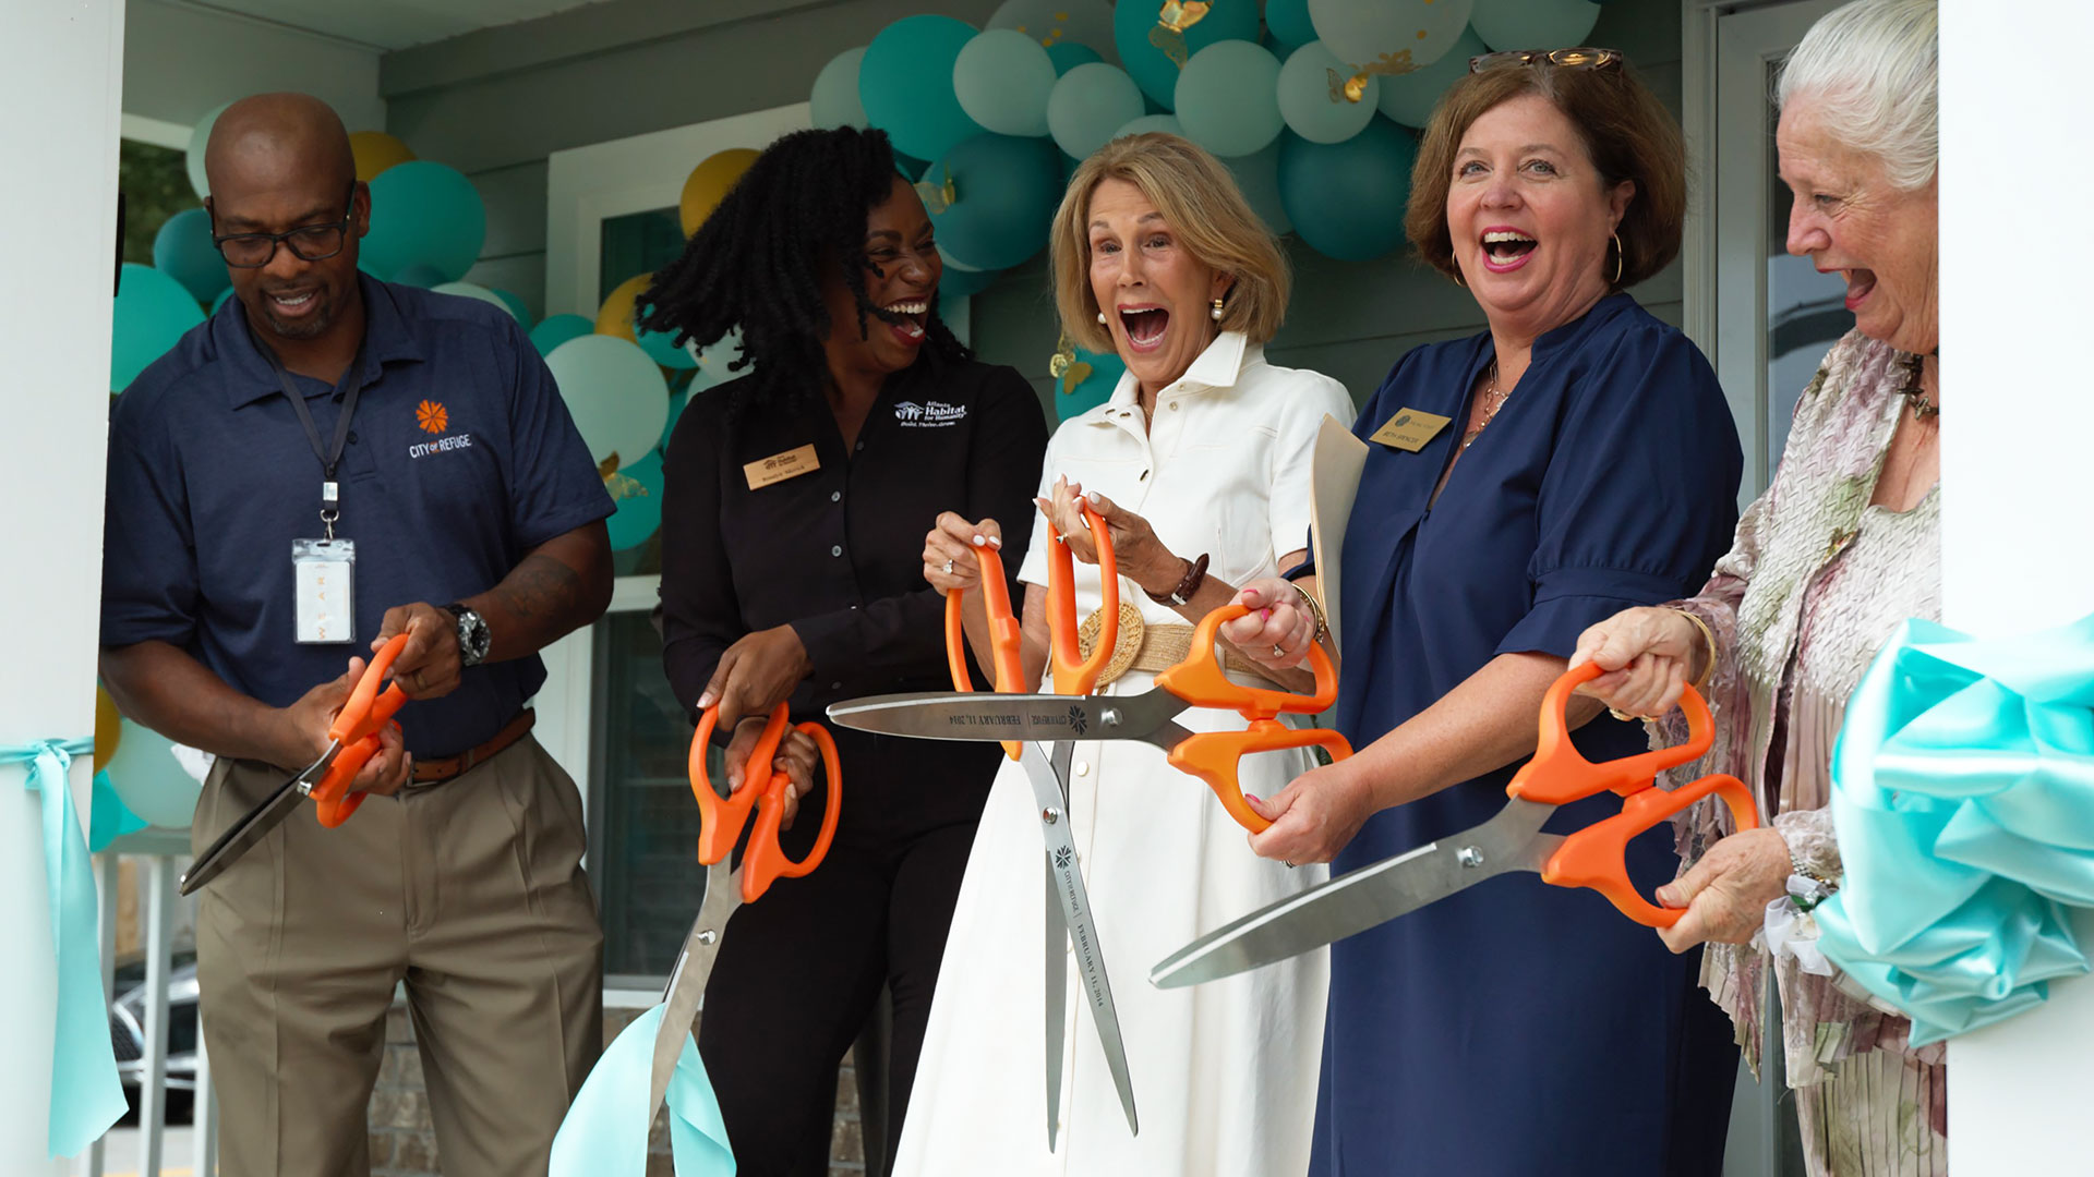
<svg viewBox="0 0 2094 1177"><path fill-rule="evenodd" d="M1832 823L1824 953L1914 1045L2088 972L2069 907L2094 907L2094 616L2000 641L1906 622L1847 702Z"/></svg>

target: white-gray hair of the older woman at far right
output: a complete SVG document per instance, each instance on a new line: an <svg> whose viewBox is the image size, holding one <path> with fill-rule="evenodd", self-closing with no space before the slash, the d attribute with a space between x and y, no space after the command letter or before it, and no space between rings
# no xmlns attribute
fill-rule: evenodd
<svg viewBox="0 0 2094 1177"><path fill-rule="evenodd" d="M1855 0L1826 13L1782 63L1776 101L1811 98L1834 142L1883 161L1897 188L1924 186L1935 132L1935 0Z"/></svg>

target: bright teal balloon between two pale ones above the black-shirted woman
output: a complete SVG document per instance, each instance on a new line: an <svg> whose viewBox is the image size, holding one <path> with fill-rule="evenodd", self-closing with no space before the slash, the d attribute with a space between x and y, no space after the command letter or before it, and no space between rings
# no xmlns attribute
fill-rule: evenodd
<svg viewBox="0 0 2094 1177"><path fill-rule="evenodd" d="M859 103L871 126L917 159L938 159L982 134L953 92L953 63L974 40L955 17L903 17L879 29L859 61Z"/></svg>

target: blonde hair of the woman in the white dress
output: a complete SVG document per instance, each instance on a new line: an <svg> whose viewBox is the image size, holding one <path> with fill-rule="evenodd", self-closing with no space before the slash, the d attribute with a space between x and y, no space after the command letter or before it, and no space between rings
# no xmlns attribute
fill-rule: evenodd
<svg viewBox="0 0 2094 1177"><path fill-rule="evenodd" d="M1091 153L1070 176L1053 214L1053 302L1062 312L1062 331L1078 348L1112 350L1112 333L1099 327L1101 308L1091 293L1091 193L1106 180L1141 188L1194 258L1235 279L1223 295L1217 327L1242 331L1252 343L1265 343L1279 331L1290 285L1279 241L1219 159L1175 134L1152 132L1116 138Z"/></svg>

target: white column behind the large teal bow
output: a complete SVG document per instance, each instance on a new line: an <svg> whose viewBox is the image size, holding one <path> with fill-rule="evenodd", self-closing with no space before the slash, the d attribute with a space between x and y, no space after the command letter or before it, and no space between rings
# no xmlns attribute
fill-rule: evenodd
<svg viewBox="0 0 2094 1177"><path fill-rule="evenodd" d="M2094 612L2094 193L2081 0L1941 4L1941 563L1977 635ZM2046 48L2048 46L2048 48ZM2052 52L2052 65L2037 65ZM2052 232L2052 228L2065 228ZM2094 951L2081 913L2079 945ZM1950 1041L1958 1177L2084 1173L2094 1154L2094 980Z"/></svg>

